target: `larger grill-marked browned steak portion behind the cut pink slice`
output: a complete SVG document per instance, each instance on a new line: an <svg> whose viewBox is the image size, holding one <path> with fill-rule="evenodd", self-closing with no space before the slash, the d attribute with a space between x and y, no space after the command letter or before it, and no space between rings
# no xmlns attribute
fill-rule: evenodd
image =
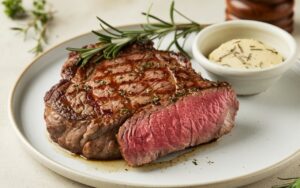
<svg viewBox="0 0 300 188"><path fill-rule="evenodd" d="M44 98L44 118L51 139L88 159L121 158L116 135L126 120L118 134L122 151L127 147L122 135L130 129L128 122L146 109L168 109L195 92L214 93L221 86L224 91L230 90L226 83L203 79L184 56L156 50L152 45L133 44L115 59L90 62L84 67L76 65L79 54L70 53L61 81Z"/></svg>

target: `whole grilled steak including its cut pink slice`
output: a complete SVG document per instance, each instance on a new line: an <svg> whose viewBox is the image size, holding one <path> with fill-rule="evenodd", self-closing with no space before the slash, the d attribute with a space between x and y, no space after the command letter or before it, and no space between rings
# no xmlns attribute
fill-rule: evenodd
<svg viewBox="0 0 300 188"><path fill-rule="evenodd" d="M233 127L238 101L231 86L203 79L181 54L143 42L83 67L79 58L69 54L62 79L44 97L51 139L73 153L138 166Z"/></svg>

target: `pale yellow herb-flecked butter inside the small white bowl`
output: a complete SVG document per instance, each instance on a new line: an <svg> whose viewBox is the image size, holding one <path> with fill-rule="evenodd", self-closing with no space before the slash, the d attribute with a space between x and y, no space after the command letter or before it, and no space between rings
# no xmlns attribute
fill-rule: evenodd
<svg viewBox="0 0 300 188"><path fill-rule="evenodd" d="M274 48L253 39L230 40L209 54L209 60L232 68L267 68L284 61Z"/></svg>

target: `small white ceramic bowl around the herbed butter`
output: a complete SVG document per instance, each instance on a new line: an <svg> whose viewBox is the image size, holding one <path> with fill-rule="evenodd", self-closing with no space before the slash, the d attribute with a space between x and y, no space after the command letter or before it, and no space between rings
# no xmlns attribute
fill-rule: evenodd
<svg viewBox="0 0 300 188"><path fill-rule="evenodd" d="M278 50L283 63L263 69L237 69L208 60L208 55L231 39L256 39ZM295 39L286 31L258 21L238 20L211 25L198 33L193 43L193 55L213 80L227 81L238 95L252 95L274 84L297 59Z"/></svg>

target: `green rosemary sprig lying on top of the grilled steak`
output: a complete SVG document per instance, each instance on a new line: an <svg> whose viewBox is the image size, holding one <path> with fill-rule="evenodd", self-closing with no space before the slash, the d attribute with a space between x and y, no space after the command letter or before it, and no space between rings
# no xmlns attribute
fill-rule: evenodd
<svg viewBox="0 0 300 188"><path fill-rule="evenodd" d="M158 18L157 16L151 14L150 10L151 6L147 12L142 12L142 15L146 16L147 23L142 24L138 30L120 30L97 17L100 21L100 27L103 31L92 32L98 36L99 45L91 48L67 48L67 50L78 52L80 54L78 65L84 66L91 60L92 62L99 62L99 60L103 58L113 59L125 46L137 41L158 39L159 46L164 37L173 32L174 38L169 43L166 50L170 50L172 46L175 46L182 54L188 56L183 49L183 45L187 36L193 32L200 31L203 27L205 27L205 25L200 25L194 22L175 9L174 1L170 6L170 21L165 21L161 18ZM175 13L185 18L187 21L189 21L189 23L176 24ZM151 23L151 21L156 21L157 23ZM182 46L178 42L180 38L184 39Z"/></svg>

